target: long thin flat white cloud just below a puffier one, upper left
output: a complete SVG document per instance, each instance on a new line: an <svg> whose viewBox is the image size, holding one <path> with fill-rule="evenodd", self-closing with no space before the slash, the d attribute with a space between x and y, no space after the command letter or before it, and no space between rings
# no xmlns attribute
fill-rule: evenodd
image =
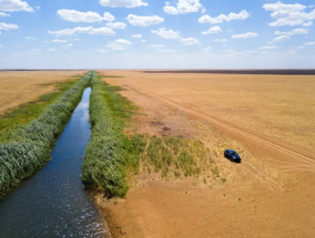
<svg viewBox="0 0 315 238"><path fill-rule="evenodd" d="M60 35L71 35L75 33L85 33L85 34L102 34L102 35L115 35L115 32L106 27L103 28L93 28L93 27L87 27L87 28L74 28L74 29L64 29L60 31L48 31L50 34L55 34L57 37Z"/></svg>

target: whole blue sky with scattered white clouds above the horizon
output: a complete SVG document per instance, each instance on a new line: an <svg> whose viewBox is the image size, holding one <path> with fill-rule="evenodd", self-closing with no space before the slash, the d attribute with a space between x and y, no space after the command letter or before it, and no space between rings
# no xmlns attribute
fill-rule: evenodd
<svg viewBox="0 0 315 238"><path fill-rule="evenodd" d="M0 69L315 68L314 0L0 0Z"/></svg>

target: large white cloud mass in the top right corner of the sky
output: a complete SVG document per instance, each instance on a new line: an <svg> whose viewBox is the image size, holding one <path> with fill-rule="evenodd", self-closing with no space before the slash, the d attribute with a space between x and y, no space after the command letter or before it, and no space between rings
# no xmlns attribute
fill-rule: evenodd
<svg viewBox="0 0 315 238"><path fill-rule="evenodd" d="M303 10L307 7L299 3L285 4L278 1L264 4L263 8L266 11L272 11L271 17L276 19L276 21L270 23L271 27L298 25L315 19L315 9L305 12Z"/></svg>

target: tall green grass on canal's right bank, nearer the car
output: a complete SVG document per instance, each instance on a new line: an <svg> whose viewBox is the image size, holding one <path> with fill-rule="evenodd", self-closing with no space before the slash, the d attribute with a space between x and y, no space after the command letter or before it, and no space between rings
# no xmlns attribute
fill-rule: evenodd
<svg viewBox="0 0 315 238"><path fill-rule="evenodd" d="M91 81L90 121L91 142L82 166L82 180L91 193L108 197L124 197L129 189L126 168L139 167L143 151L136 139L123 133L125 118L133 106L116 93L120 87L109 86L95 76Z"/></svg>

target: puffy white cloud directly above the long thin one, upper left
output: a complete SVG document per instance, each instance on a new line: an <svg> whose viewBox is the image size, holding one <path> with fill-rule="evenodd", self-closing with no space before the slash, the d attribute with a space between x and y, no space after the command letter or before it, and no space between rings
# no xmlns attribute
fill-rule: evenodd
<svg viewBox="0 0 315 238"><path fill-rule="evenodd" d="M114 21L115 17L109 12L105 12L103 17L101 17L96 12L88 11L75 11L75 10L58 10L57 14L62 18L64 21L71 22L101 22L101 21Z"/></svg>

